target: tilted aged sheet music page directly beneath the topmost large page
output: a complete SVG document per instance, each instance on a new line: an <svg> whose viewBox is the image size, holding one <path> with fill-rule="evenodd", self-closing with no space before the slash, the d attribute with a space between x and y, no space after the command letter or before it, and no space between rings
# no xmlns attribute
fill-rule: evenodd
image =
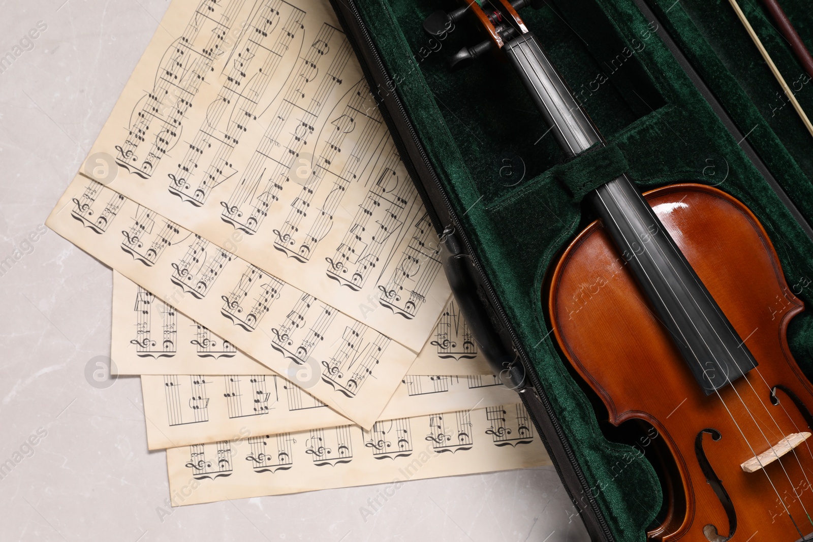
<svg viewBox="0 0 813 542"><path fill-rule="evenodd" d="M46 221L144 288L134 302L139 345L172 349L177 309L277 374L309 373L308 392L354 423L371 427L380 418L415 353L177 225L172 227L176 242L162 245L145 265L132 257L120 232L133 217L147 215L155 223L170 223L95 180L76 176ZM155 303L156 297L164 302Z"/></svg>

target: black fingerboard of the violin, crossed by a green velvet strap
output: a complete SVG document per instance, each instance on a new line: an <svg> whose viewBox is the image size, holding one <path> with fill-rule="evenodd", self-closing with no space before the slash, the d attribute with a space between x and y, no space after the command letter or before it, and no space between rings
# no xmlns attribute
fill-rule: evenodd
<svg viewBox="0 0 813 542"><path fill-rule="evenodd" d="M604 140L536 37L503 46L556 141L571 157ZM622 175L585 198L706 394L757 365L641 193Z"/></svg>

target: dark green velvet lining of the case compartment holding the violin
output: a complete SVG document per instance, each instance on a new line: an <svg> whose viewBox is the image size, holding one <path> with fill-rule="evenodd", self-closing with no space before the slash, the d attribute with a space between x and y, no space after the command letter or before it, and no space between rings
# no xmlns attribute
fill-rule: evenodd
<svg viewBox="0 0 813 542"><path fill-rule="evenodd" d="M789 284L806 284L806 277L813 278L813 243L694 89L633 0L563 0L555 2L557 11L546 7L522 13L611 143L609 149L570 164L562 164L562 151L546 135L541 115L506 63L485 59L459 72L446 70L450 54L471 46L476 37L471 28L459 24L446 39L429 42L421 22L432 11L449 10L454 4L440 0L357 3L397 83L394 92L402 98L476 255L537 368L585 471L590 493L617 540L645 540L646 527L662 501L658 479L649 462L628 461L631 447L602 435L590 401L554 346L540 299L550 263L591 219L578 204L580 198L594 184L620 171L627 171L641 190L677 181L716 185L749 206L762 221ZM679 5L670 9L675 3ZM798 16L802 3L786 0L783 6L788 4L785 9ZM730 7L724 4L720 0L660 2L670 29L685 36L680 45L693 60L702 60L704 75L742 131L757 125L750 141L802 213L813 217L813 190L806 177L813 166L808 164L813 160L813 140L793 132L792 119L767 119L772 111L754 99L754 91L767 89L773 80L759 69L758 60L749 59L753 46L747 36L729 27L730 17L722 12ZM702 24L698 17L703 18ZM720 20L719 27L714 20ZM813 24L805 28L803 37L811 37L811 28ZM731 43L723 43L726 39ZM753 75L746 66L754 68ZM752 79L744 82L744 76ZM384 96L393 89L374 92ZM813 98L813 90L809 93ZM522 165L517 171L521 182L515 183L515 177L505 182L501 175L506 155L513 157L512 164ZM799 290L798 297L809 306L813 284ZM798 362L813 374L811 314L793 320L789 344ZM587 495L574 498L584 505Z"/></svg>

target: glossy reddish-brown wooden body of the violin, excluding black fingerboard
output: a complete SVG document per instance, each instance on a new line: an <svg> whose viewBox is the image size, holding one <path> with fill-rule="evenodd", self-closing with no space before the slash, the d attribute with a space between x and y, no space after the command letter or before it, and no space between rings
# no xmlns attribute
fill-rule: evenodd
<svg viewBox="0 0 813 542"><path fill-rule="evenodd" d="M680 504L650 538L793 542L801 531L807 540L813 439L754 472L741 467L786 436L811 431L805 405L813 406L813 386L785 334L802 301L765 230L735 198L699 184L645 197L759 363L706 394L600 221L563 254L550 293L542 292L563 353L611 423L645 420L676 462L671 485L682 495L672 502Z"/></svg>

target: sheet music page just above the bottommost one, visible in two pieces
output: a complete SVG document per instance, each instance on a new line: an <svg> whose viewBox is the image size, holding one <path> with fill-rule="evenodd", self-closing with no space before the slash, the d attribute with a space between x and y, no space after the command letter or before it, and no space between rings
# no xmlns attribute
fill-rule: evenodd
<svg viewBox="0 0 813 542"><path fill-rule="evenodd" d="M277 375L143 375L149 449L350 424ZM520 402L493 375L406 375L382 419Z"/></svg>

